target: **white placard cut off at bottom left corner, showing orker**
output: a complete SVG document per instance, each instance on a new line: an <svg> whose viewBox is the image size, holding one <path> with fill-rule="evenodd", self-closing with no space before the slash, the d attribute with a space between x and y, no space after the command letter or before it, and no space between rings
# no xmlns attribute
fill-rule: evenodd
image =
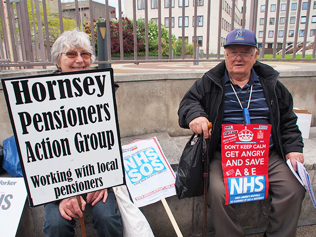
<svg viewBox="0 0 316 237"><path fill-rule="evenodd" d="M15 236L26 198L23 178L0 177L1 236Z"/></svg>

